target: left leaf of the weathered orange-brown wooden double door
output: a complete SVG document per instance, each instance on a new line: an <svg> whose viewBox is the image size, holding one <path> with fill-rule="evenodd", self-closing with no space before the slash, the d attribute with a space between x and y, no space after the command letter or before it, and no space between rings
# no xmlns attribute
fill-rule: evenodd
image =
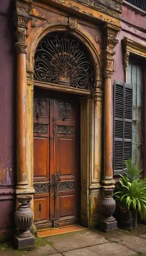
<svg viewBox="0 0 146 256"><path fill-rule="evenodd" d="M34 221L37 228L51 227L50 221L50 125L49 99L34 98Z"/></svg>

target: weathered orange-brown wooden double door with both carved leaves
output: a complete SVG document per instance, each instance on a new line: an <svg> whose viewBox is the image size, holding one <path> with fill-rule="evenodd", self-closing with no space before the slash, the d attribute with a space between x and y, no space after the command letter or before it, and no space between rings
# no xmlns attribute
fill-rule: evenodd
<svg viewBox="0 0 146 256"><path fill-rule="evenodd" d="M74 95L34 94L34 222L80 222L80 104Z"/></svg>

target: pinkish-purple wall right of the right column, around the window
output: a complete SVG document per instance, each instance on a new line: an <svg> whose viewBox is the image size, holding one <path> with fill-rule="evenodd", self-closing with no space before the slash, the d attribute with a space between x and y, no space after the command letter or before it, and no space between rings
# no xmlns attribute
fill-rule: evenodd
<svg viewBox="0 0 146 256"><path fill-rule="evenodd" d="M123 13L121 14L121 31L117 34L118 44L115 47L116 54L114 56L114 79L125 81L123 69L123 49L121 39L128 37L129 39L139 41L146 45L146 16L134 12L133 10L123 6ZM136 57L136 55L135 55ZM146 177L146 66L144 69L143 79L143 175Z"/></svg>

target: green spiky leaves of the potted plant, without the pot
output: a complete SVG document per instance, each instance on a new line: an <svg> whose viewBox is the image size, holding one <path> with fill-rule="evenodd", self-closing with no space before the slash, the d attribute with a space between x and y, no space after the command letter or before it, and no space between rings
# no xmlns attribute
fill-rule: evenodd
<svg viewBox="0 0 146 256"><path fill-rule="evenodd" d="M116 184L114 198L119 207L123 209L138 210L140 218L146 217L146 179L141 180L141 170L126 161L127 175L120 175Z"/></svg>

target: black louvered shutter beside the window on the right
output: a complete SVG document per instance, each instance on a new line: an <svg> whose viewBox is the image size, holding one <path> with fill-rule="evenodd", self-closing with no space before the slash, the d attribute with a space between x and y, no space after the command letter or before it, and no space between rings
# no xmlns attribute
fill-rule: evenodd
<svg viewBox="0 0 146 256"><path fill-rule="evenodd" d="M132 148L132 84L114 82L114 175L126 172Z"/></svg>

